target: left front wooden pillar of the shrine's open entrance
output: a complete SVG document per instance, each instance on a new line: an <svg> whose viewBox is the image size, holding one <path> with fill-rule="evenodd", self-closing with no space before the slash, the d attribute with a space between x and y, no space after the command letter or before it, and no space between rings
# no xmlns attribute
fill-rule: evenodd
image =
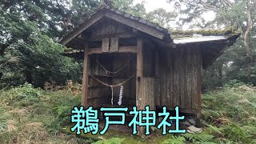
<svg viewBox="0 0 256 144"><path fill-rule="evenodd" d="M84 61L83 61L83 76L82 76L82 106L88 107L88 71L89 71L89 54L88 44L85 45Z"/></svg>

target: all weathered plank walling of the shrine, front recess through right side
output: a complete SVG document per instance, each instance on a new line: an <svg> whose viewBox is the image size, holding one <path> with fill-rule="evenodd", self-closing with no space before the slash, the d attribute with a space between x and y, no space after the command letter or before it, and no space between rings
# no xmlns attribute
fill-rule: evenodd
<svg viewBox="0 0 256 144"><path fill-rule="evenodd" d="M118 70L125 65L132 54L112 53L118 51L118 34L132 33L132 29L120 23L100 21L86 31L90 38L103 39L102 44L93 43L90 47L103 46L103 54L90 55L89 74L94 75L102 82L118 84L136 74L137 54L129 65L118 74L107 74L106 70L98 65L96 59L107 70ZM105 38L108 36L107 38ZM112 38L113 36L113 38ZM105 42L106 41L106 42ZM121 45L130 46L127 39L122 40ZM126 43L127 42L127 43ZM202 81L202 58L198 46L184 46L176 49L165 49L155 46L154 42L142 38L142 86L141 96L136 97L136 78L130 79L124 84L122 98L123 106L146 106L154 110L155 106L167 106L172 110L180 106L185 113L198 114L201 110L201 81ZM132 42L133 46L136 42ZM137 42L138 44L138 42ZM104 46L106 49L104 49ZM89 78L88 102L90 106L101 107L111 104L111 89ZM118 103L120 87L114 88L114 105ZM136 99L141 98L141 99ZM136 105L137 102L137 105ZM138 104L139 102L139 104Z"/></svg>

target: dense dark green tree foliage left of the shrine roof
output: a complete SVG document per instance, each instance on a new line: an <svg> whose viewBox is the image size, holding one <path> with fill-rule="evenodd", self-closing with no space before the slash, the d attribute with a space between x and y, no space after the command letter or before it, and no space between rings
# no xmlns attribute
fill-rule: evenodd
<svg viewBox="0 0 256 144"><path fill-rule="evenodd" d="M134 15L145 15L133 0L105 1ZM82 82L82 62L62 56L58 39L104 2L98 0L0 1L0 89L29 82ZM15 59L15 62L13 61Z"/></svg>

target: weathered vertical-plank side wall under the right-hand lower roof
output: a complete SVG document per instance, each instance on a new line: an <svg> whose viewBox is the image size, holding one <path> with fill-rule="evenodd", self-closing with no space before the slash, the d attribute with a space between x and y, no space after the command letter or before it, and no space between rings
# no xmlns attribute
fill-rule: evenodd
<svg viewBox="0 0 256 144"><path fill-rule="evenodd" d="M159 77L155 82L157 106L197 114L201 109L202 59L199 47L158 51Z"/></svg>

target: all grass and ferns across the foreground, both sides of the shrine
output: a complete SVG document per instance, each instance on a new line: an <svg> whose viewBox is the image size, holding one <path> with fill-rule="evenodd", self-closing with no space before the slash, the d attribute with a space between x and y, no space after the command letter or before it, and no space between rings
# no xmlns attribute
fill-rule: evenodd
<svg viewBox="0 0 256 144"><path fill-rule="evenodd" d="M138 137L108 130L76 136L70 110L80 102L70 89L25 84L0 90L0 143L256 143L256 88L237 82L203 94L201 134Z"/></svg>

